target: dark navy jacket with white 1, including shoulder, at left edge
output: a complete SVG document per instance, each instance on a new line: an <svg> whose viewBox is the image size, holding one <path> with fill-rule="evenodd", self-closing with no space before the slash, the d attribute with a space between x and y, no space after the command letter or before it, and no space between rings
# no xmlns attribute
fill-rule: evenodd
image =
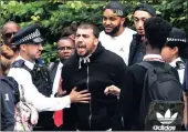
<svg viewBox="0 0 188 132"><path fill-rule="evenodd" d="M15 104L20 101L20 93L18 83L13 78L1 78L0 81L0 95L1 95L1 131L13 131L14 129L14 110Z"/></svg>

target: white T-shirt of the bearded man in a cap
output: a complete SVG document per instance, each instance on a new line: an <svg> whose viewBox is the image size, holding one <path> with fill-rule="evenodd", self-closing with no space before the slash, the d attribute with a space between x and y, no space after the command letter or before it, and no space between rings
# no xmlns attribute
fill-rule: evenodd
<svg viewBox="0 0 188 132"><path fill-rule="evenodd" d="M128 64L129 45L135 33L136 32L129 28L125 28L124 32L118 37L111 37L102 31L98 39L105 49L115 52Z"/></svg>

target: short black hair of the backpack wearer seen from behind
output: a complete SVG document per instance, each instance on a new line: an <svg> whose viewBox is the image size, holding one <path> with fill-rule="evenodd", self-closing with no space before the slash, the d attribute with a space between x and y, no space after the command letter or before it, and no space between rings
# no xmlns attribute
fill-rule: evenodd
<svg viewBox="0 0 188 132"><path fill-rule="evenodd" d="M165 45L167 37L171 31L171 26L168 21L153 17L144 23L145 37L153 49L160 49Z"/></svg>

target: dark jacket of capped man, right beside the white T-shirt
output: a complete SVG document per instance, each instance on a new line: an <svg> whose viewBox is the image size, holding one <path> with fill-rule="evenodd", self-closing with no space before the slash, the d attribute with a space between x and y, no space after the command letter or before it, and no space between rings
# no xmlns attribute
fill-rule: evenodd
<svg viewBox="0 0 188 132"><path fill-rule="evenodd" d="M128 67L134 63L139 63L143 61L144 55L146 54L145 43L142 40L142 35L133 34L133 40L129 47L129 57L128 57Z"/></svg>

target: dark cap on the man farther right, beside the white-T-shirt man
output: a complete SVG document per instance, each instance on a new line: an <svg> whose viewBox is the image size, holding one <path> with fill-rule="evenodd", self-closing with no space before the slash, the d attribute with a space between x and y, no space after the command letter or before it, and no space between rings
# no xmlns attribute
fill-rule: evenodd
<svg viewBox="0 0 188 132"><path fill-rule="evenodd" d="M147 3L136 6L134 12L138 11L138 10L146 11L146 12L150 13L153 17L156 17L156 10Z"/></svg>

